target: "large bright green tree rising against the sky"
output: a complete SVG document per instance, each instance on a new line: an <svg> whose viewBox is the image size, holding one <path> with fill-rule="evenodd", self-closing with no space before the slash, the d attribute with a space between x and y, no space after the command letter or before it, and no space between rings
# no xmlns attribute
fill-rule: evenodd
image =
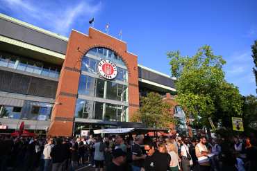
<svg viewBox="0 0 257 171"><path fill-rule="evenodd" d="M222 56L215 56L210 46L198 49L196 55L181 57L180 52L166 53L171 65L172 76L176 78L178 91L175 102L191 113L197 126L205 126L210 138L208 118L227 114L242 114L242 100L238 87L226 82ZM217 112L218 111L218 112ZM231 118L230 118L231 119Z"/></svg>

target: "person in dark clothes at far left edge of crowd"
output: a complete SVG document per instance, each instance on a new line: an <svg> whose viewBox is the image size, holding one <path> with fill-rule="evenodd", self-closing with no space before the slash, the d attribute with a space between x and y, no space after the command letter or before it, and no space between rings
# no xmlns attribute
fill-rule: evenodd
<svg viewBox="0 0 257 171"><path fill-rule="evenodd" d="M9 161L9 152L12 150L13 142L10 141L10 135L7 135L4 141L0 143L0 170L6 170Z"/></svg>

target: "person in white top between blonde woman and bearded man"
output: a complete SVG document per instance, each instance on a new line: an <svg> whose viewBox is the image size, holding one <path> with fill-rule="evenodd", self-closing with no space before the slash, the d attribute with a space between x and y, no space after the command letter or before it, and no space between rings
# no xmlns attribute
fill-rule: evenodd
<svg viewBox="0 0 257 171"><path fill-rule="evenodd" d="M189 148L188 141L185 141L185 138L181 139L181 156L182 156L182 170L190 171L190 162L188 160Z"/></svg>

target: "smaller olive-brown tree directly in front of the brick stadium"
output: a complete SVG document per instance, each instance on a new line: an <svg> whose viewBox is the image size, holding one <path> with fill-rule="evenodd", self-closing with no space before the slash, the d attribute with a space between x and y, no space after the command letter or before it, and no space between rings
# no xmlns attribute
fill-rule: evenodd
<svg viewBox="0 0 257 171"><path fill-rule="evenodd" d="M131 116L131 122L144 122L146 127L167 129L176 125L177 120L170 115L171 102L163 102L158 93L148 93L147 98L140 97L140 105Z"/></svg>

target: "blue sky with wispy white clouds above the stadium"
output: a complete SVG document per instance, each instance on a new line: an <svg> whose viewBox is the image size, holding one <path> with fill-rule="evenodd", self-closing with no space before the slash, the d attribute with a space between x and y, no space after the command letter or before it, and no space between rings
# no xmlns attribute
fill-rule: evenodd
<svg viewBox="0 0 257 171"><path fill-rule="evenodd" d="M205 44L222 55L226 80L244 96L256 95L251 45L257 39L257 1L22 1L0 0L4 15L69 37L71 30L94 28L127 43L138 64L171 75L165 53L194 55Z"/></svg>

